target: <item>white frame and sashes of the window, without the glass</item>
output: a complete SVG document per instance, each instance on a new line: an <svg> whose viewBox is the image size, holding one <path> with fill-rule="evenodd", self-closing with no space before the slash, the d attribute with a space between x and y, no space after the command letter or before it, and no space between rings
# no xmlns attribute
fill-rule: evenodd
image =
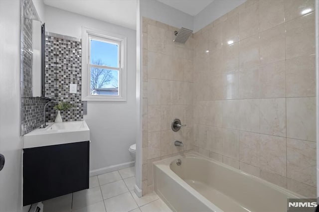
<svg viewBox="0 0 319 212"><path fill-rule="evenodd" d="M119 43L119 68L107 67L119 71L119 95L91 95L90 38ZM94 65L94 67L99 67ZM101 66L100 68L106 68ZM99 29L82 26L82 101L126 102L127 101L127 37Z"/></svg>

